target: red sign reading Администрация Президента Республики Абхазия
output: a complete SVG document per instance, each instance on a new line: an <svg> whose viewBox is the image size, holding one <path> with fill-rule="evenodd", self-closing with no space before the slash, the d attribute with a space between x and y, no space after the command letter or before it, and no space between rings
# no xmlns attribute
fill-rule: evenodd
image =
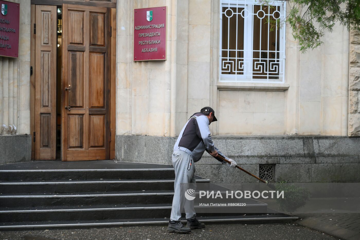
<svg viewBox="0 0 360 240"><path fill-rule="evenodd" d="M134 9L134 61L166 60L166 11Z"/></svg>

